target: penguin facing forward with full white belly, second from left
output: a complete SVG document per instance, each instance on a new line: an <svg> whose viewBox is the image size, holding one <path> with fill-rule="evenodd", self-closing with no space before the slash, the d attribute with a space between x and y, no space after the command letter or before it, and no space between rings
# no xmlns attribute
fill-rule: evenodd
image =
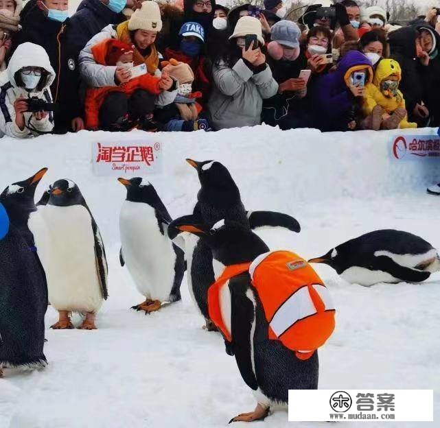
<svg viewBox="0 0 440 428"><path fill-rule="evenodd" d="M107 261L100 230L78 186L58 180L47 204L38 206L47 226L36 236L47 274L49 301L59 313L52 329L73 329L72 311L85 314L79 329L96 329L95 315L107 293Z"/></svg>

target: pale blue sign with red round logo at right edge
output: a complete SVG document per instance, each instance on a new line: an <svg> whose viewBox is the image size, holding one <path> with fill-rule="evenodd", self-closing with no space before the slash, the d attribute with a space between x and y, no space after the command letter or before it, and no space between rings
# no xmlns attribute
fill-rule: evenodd
<svg viewBox="0 0 440 428"><path fill-rule="evenodd" d="M440 159L440 136L399 135L393 137L392 156L399 160Z"/></svg>

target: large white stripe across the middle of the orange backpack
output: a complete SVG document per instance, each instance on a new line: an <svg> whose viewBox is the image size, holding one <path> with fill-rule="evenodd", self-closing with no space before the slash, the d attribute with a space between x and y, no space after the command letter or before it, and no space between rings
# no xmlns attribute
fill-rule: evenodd
<svg viewBox="0 0 440 428"><path fill-rule="evenodd" d="M279 307L270 321L270 328L279 337L294 322L314 313L316 308L310 298L308 287L302 287Z"/></svg>

